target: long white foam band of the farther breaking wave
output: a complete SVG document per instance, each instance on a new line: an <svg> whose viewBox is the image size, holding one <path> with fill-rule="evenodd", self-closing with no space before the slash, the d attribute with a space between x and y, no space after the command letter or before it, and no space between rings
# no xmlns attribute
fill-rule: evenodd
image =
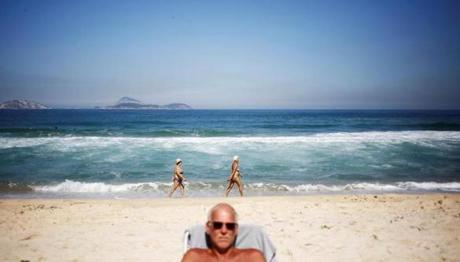
<svg viewBox="0 0 460 262"><path fill-rule="evenodd" d="M215 153L220 146L232 144L353 144L380 143L396 144L403 142L431 145L432 142L460 142L459 131L388 131L354 133L319 133L304 136L244 136L244 137L39 137L39 138L0 138L0 149L13 147L53 146L57 150L79 147L161 147L173 149L177 146L191 145L197 151Z"/></svg>

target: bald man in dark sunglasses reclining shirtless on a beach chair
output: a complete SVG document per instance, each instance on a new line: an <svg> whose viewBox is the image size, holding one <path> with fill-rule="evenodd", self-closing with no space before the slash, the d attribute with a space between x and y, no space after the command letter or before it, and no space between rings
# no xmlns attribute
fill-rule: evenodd
<svg viewBox="0 0 460 262"><path fill-rule="evenodd" d="M209 211L206 234L209 236L211 246L207 249L190 249L182 258L183 262L265 261L262 252L257 249L238 249L234 246L238 235L238 222L236 211L229 204L217 204Z"/></svg>

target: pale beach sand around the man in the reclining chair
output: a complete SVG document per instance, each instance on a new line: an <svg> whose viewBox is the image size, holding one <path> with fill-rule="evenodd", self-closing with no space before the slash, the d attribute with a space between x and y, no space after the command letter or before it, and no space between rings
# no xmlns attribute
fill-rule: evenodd
<svg viewBox="0 0 460 262"><path fill-rule="evenodd" d="M184 230L221 201L264 226L279 261L460 260L460 194L0 199L0 260L180 261Z"/></svg>

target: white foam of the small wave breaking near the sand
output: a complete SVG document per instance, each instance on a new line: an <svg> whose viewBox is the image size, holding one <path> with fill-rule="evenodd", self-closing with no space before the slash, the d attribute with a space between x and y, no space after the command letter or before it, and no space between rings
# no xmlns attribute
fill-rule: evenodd
<svg viewBox="0 0 460 262"><path fill-rule="evenodd" d="M170 182L145 182L126 184L106 184L102 182L78 182L66 180L56 185L33 186L36 192L48 193L125 193L125 192L167 192ZM221 190L222 183L194 182L186 184L189 191L217 192ZM246 190L249 192L269 193L347 193L347 192L460 192L460 182L397 182L393 184L382 183L351 183L345 185L324 184L277 184L277 183L248 183Z"/></svg>

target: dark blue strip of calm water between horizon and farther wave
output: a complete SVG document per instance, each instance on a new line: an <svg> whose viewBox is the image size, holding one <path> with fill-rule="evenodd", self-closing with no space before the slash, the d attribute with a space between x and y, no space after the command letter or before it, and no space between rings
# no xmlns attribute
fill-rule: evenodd
<svg viewBox="0 0 460 262"><path fill-rule="evenodd" d="M3 110L2 137L257 136L460 131L459 111Z"/></svg>

